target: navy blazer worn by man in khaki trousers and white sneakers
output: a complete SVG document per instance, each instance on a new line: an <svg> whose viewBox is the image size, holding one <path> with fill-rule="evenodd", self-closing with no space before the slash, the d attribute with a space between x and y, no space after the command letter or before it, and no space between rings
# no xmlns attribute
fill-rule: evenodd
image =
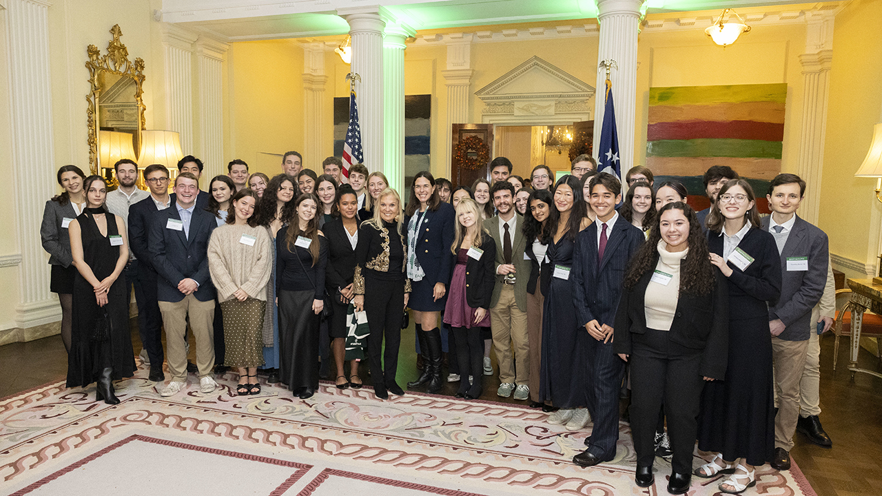
<svg viewBox="0 0 882 496"><path fill-rule="evenodd" d="M166 228L168 219L181 219L174 203L156 214L148 237L153 267L159 274L156 282L159 301L181 301L184 295L177 285L188 277L199 284L193 293L196 299L214 299L214 286L208 273L208 239L218 225L215 217L198 206L194 208L189 237L183 230Z"/></svg>

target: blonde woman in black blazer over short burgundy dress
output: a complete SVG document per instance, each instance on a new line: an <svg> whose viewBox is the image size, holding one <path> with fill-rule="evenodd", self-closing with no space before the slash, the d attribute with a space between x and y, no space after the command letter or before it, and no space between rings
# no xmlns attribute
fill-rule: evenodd
<svg viewBox="0 0 882 496"><path fill-rule="evenodd" d="M483 226L479 208L474 199L460 200L456 206L456 237L450 248L453 270L444 312L445 324L450 324L456 337L460 364L456 396L469 400L482 393L481 328L490 327L490 299L496 283L496 242Z"/></svg>

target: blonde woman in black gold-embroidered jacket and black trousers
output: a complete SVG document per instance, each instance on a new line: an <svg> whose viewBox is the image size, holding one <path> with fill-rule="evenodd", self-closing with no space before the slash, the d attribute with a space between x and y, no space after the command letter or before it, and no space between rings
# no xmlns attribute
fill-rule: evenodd
<svg viewBox="0 0 882 496"><path fill-rule="evenodd" d="M405 272L407 248L401 236L400 215L398 192L386 188L374 203L373 218L358 228L355 246L352 304L356 311L368 314L370 377L374 394L381 400L389 399L389 392L404 395L395 381L401 345L401 312L410 297L410 280Z"/></svg>

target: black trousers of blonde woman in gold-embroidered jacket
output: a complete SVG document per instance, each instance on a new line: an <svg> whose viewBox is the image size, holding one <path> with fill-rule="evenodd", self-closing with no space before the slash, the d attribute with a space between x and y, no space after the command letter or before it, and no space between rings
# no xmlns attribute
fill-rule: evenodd
<svg viewBox="0 0 882 496"><path fill-rule="evenodd" d="M388 387L395 382L395 373L398 372L401 315L404 312L404 281L385 281L372 277L370 272L365 274L364 311L367 313L368 327L370 327L368 335L370 378L374 387Z"/></svg>

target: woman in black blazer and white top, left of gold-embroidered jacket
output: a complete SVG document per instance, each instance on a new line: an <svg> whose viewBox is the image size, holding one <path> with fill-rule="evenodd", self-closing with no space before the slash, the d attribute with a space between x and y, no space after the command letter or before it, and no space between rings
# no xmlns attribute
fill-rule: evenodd
<svg viewBox="0 0 882 496"><path fill-rule="evenodd" d="M358 197L352 186L341 184L334 201L338 219L325 224L322 229L328 240L328 265L325 275L327 294L331 295L333 313L329 328L333 339L333 357L337 363L337 387L345 389L362 387L362 378L358 377L358 360L349 362L349 379L343 371L343 360L346 357L346 336L348 323L346 313L353 292L355 275L355 246L358 244ZM342 379L342 380L340 380Z"/></svg>

